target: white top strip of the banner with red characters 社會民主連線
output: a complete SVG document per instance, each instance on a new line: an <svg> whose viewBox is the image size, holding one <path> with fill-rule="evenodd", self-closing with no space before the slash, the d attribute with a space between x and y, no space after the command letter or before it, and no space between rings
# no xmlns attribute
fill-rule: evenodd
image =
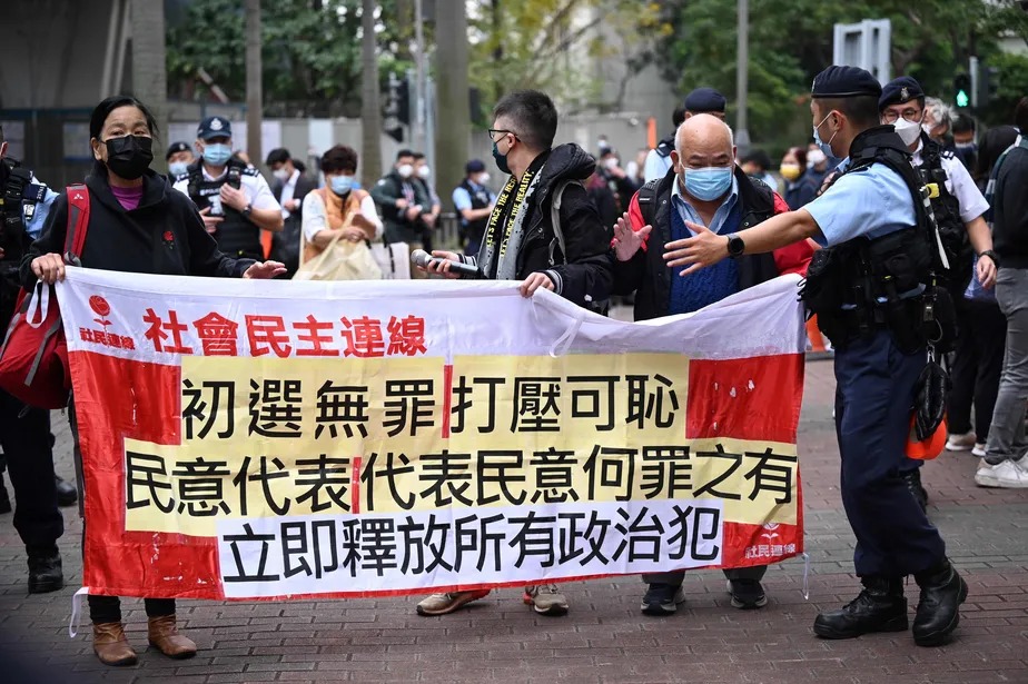
<svg viewBox="0 0 1028 684"><path fill-rule="evenodd" d="M202 354L196 321L217 314L238 326L238 356L251 356L247 316L279 316L296 355L291 326L312 317L333 321L363 316L382 321L415 315L425 321L425 356L541 355L672 351L726 359L801 354L805 333L798 301L799 276L783 276L694 314L622 323L550 293L524 299L517 284L483 280L363 282L263 281L121 274L69 267L58 284L68 347L121 358L178 365L180 355L158 351L147 337L154 321L174 347L170 316L181 346ZM98 341L99 340L99 341ZM127 340L131 340L132 348Z"/></svg>

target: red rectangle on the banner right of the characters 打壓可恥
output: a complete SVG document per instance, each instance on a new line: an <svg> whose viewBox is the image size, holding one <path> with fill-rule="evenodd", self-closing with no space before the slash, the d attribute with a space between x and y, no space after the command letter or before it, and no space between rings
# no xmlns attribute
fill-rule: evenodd
<svg viewBox="0 0 1028 684"><path fill-rule="evenodd" d="M685 436L795 444L803 355L691 359Z"/></svg>

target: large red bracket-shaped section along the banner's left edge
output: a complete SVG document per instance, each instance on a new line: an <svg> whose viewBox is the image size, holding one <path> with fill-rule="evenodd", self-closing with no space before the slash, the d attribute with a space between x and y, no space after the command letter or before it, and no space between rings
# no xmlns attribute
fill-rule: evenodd
<svg viewBox="0 0 1028 684"><path fill-rule="evenodd" d="M216 539L126 532L126 437L179 444L180 371L91 351L71 354L85 468L82 584L96 594L221 598Z"/></svg>

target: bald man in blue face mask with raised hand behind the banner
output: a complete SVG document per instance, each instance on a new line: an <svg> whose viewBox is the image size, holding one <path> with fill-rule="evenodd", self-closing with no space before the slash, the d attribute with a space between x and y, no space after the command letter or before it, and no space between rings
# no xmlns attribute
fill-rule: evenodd
<svg viewBox="0 0 1028 684"><path fill-rule="evenodd" d="M666 256L692 235L685 221L734 236L789 210L781 197L735 166L732 129L716 117L686 119L675 135L671 161L663 178L635 194L629 212L614 227L614 293L635 293L635 320L695 311L780 274L805 271L813 250L802 240L773 255L730 259L689 277L671 269ZM760 565L725 571L734 607L759 608L768 603L760 584L765 569ZM683 577L684 572L643 575L650 586L642 612L674 613L684 601Z"/></svg>

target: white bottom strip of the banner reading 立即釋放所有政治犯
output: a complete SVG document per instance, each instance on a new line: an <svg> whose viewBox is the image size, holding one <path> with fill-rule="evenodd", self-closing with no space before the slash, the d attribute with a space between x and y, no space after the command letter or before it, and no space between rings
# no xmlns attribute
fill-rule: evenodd
<svg viewBox="0 0 1028 684"><path fill-rule="evenodd" d="M459 514L459 515L455 515ZM721 562L718 499L220 519L225 596L538 584Z"/></svg>

